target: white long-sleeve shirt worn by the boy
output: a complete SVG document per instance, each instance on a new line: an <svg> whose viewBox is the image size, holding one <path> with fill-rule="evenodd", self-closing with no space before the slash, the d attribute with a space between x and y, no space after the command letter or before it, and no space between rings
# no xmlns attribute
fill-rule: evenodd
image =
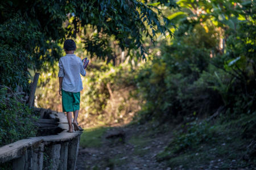
<svg viewBox="0 0 256 170"><path fill-rule="evenodd" d="M75 54L66 54L60 58L58 77L63 77L62 88L64 91L80 92L82 90L80 74L86 75L81 58Z"/></svg>

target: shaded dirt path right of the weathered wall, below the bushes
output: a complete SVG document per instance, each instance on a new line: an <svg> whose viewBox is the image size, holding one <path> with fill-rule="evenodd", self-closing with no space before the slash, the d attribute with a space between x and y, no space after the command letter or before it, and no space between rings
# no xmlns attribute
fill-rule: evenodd
<svg viewBox="0 0 256 170"><path fill-rule="evenodd" d="M112 128L102 136L101 147L79 149L76 169L171 169L155 158L171 140L168 131L147 125Z"/></svg>

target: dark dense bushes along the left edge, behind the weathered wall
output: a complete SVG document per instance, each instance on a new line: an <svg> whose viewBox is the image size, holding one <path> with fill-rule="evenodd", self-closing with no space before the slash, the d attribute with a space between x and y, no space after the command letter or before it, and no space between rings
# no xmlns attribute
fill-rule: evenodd
<svg viewBox="0 0 256 170"><path fill-rule="evenodd" d="M22 98L29 92L28 67L33 62L30 45L39 36L40 33L18 15L0 24L1 146L36 134L32 125L34 112ZM21 91L23 93L17 95Z"/></svg>

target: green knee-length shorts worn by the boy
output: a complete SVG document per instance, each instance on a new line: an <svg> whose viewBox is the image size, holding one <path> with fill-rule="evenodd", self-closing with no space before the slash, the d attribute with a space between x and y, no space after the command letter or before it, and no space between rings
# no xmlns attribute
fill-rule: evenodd
<svg viewBox="0 0 256 170"><path fill-rule="evenodd" d="M80 92L69 92L61 89L63 112L74 112L80 109Z"/></svg>

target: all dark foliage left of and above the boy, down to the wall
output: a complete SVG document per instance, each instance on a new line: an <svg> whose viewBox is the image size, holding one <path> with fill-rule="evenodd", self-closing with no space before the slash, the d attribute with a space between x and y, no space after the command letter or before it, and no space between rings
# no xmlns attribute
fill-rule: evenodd
<svg viewBox="0 0 256 170"><path fill-rule="evenodd" d="M173 7L175 3L168 6ZM110 38L122 50L139 49L144 56L142 35L154 41L156 32L171 34L168 19L159 8L135 0L1 1L0 10L0 85L15 92L23 91L23 95L30 92L31 73L54 69L53 65L62 55L60 44L68 37L84 33L84 48L92 56L96 54L111 61L114 49L108 44ZM86 28L93 29L93 34L86 34ZM6 95L3 94L3 99ZM2 121L10 122L9 109L24 103L26 101L16 101L9 107L6 102L1 103ZM19 112L23 114L15 119L17 122L23 122L23 117L31 114L25 106L13 114ZM24 129L16 126L2 126L1 130L3 134L11 131L9 135L14 140L29 135L23 133L31 128L29 124L24 124ZM7 142L13 141L7 139L1 144Z"/></svg>

